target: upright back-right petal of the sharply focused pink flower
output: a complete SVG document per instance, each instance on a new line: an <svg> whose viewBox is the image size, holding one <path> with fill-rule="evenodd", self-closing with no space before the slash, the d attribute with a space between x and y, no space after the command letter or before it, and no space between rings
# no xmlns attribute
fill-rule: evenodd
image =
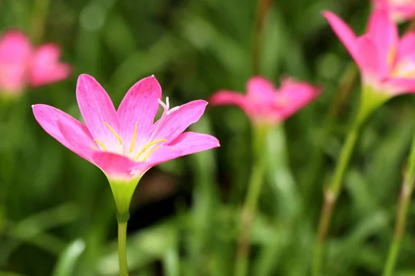
<svg viewBox="0 0 415 276"><path fill-rule="evenodd" d="M131 145L136 124L136 137L149 138L159 107L157 99L161 99L161 87L154 76L138 81L128 90L118 108L124 147Z"/></svg>

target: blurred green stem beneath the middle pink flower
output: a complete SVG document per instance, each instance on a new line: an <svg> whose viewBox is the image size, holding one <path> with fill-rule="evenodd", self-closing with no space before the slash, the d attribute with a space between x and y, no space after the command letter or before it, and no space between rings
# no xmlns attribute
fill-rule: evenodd
<svg viewBox="0 0 415 276"><path fill-rule="evenodd" d="M262 181L264 179L264 146L266 143L268 128L257 127L254 130L253 150L254 163L248 183L248 193L243 203L241 213L241 233L238 240L237 262L235 264L235 275L246 276L248 274L248 259L250 250L250 233L252 221L257 211L259 194L261 193Z"/></svg>

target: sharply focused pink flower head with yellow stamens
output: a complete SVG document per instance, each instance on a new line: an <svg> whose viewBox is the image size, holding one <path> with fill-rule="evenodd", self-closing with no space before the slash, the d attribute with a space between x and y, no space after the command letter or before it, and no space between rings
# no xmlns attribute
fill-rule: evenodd
<svg viewBox="0 0 415 276"><path fill-rule="evenodd" d="M44 104L33 106L35 118L48 134L111 180L139 179L152 166L219 147L211 135L182 133L199 120L208 103L197 100L170 108L168 98L160 101L161 88L153 76L133 85L118 110L89 75L78 78L76 97L85 124ZM154 122L159 105L163 115Z"/></svg>

